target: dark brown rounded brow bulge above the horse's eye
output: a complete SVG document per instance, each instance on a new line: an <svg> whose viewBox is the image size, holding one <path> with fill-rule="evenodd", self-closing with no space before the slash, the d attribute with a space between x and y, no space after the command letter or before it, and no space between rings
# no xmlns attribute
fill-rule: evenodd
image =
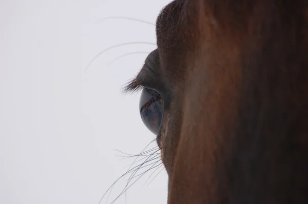
<svg viewBox="0 0 308 204"><path fill-rule="evenodd" d="M185 74L187 53L194 52L198 38L199 1L175 0L160 13L156 23L162 69L172 78Z"/></svg>

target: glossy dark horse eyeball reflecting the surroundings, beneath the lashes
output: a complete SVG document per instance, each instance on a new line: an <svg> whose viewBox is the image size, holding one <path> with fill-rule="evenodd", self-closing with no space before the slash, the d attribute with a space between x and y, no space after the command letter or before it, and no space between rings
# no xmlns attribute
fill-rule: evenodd
<svg viewBox="0 0 308 204"><path fill-rule="evenodd" d="M163 115L163 97L154 90L144 88L139 108L144 125L152 133L157 134Z"/></svg>

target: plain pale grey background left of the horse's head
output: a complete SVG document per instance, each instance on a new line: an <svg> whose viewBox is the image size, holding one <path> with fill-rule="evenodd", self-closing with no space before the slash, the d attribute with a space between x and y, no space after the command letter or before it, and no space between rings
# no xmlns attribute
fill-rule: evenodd
<svg viewBox="0 0 308 204"><path fill-rule="evenodd" d="M170 1L0 2L0 203L98 203L132 162L114 150L137 154L155 138L140 119L140 95L120 93L146 54L109 63L156 48L112 49L84 73L110 46L156 42L155 26L99 19L155 23ZM149 175L115 203L166 203L165 171L147 186ZM118 182L109 201L126 182Z"/></svg>

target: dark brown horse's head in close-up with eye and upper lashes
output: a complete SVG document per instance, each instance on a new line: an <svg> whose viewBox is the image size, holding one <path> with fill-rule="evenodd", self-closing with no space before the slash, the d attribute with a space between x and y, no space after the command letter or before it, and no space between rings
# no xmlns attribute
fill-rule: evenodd
<svg viewBox="0 0 308 204"><path fill-rule="evenodd" d="M308 1L174 0L126 91L168 204L308 203Z"/></svg>

